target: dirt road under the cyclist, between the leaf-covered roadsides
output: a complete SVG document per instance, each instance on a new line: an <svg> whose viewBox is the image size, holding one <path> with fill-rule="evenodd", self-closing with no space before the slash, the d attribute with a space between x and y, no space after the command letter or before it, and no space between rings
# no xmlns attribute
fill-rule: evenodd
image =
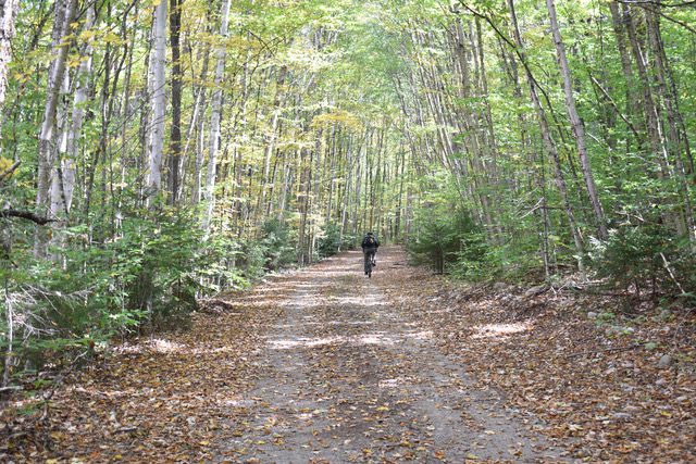
<svg viewBox="0 0 696 464"><path fill-rule="evenodd" d="M358 251L284 279L279 319L253 354L256 384L234 405L217 462L559 462L492 390L436 348L418 309L385 296L400 249L372 279Z"/></svg>

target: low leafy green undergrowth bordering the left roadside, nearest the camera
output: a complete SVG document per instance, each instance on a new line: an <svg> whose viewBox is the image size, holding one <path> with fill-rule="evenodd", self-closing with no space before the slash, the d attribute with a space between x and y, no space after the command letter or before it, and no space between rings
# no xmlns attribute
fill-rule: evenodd
<svg viewBox="0 0 696 464"><path fill-rule="evenodd" d="M14 265L0 274L7 286L0 350L9 349L11 304L15 324L22 321L12 341L16 365L55 363L134 330L186 326L197 297L247 284L233 266L237 243L206 240L194 211L133 211L117 236L100 246L78 246L88 239L85 226L54 239L59 262L36 260L29 249L17 248Z"/></svg>

